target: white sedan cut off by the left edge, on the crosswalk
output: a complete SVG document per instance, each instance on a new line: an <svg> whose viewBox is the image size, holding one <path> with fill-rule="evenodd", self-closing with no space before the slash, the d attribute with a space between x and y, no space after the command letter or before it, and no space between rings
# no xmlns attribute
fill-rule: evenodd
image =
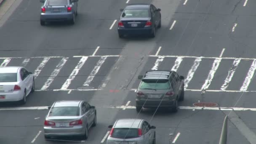
<svg viewBox="0 0 256 144"><path fill-rule="evenodd" d="M0 102L20 101L35 90L34 75L24 67L0 67Z"/></svg>

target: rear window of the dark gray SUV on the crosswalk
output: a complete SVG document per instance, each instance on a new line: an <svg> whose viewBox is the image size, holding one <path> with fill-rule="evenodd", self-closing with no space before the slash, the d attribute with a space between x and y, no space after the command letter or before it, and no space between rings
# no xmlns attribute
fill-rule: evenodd
<svg viewBox="0 0 256 144"><path fill-rule="evenodd" d="M140 89L169 89L171 87L169 80L160 80L160 79L152 79L152 80L142 80L139 86Z"/></svg>

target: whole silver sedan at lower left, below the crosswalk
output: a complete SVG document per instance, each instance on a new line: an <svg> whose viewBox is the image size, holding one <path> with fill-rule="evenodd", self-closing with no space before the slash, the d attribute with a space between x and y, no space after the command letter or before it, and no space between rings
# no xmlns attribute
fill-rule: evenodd
<svg viewBox="0 0 256 144"><path fill-rule="evenodd" d="M96 109L86 101L56 101L45 117L45 139L51 136L88 138L88 130L96 126Z"/></svg>

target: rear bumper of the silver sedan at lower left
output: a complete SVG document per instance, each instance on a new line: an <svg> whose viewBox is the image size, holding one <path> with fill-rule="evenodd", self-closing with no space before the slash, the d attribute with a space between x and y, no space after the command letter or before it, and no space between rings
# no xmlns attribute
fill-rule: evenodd
<svg viewBox="0 0 256 144"><path fill-rule="evenodd" d="M44 127L45 136L81 136L85 134L83 126L74 126L73 128L52 128Z"/></svg>

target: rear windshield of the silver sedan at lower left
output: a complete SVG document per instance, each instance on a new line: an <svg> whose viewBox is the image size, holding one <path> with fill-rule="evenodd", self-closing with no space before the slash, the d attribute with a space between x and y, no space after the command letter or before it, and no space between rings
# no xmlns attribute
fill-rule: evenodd
<svg viewBox="0 0 256 144"><path fill-rule="evenodd" d="M53 107L49 116L79 116L79 110L79 107Z"/></svg>

